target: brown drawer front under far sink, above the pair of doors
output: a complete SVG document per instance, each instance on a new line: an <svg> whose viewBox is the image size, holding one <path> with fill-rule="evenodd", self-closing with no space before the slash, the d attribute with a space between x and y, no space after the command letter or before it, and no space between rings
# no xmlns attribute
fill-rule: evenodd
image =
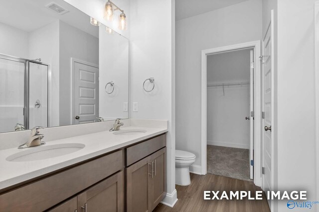
<svg viewBox="0 0 319 212"><path fill-rule="evenodd" d="M126 148L126 166L129 166L142 158L156 152L166 146L166 134L155 137L148 141L143 141Z"/></svg>

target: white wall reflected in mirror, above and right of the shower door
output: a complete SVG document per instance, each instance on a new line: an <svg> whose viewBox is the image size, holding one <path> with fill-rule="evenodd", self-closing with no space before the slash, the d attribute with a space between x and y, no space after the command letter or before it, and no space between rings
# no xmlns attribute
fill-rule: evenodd
<svg viewBox="0 0 319 212"><path fill-rule="evenodd" d="M52 107L49 126L59 125L59 20L29 33L28 59L50 65ZM49 97L50 98L50 97Z"/></svg>

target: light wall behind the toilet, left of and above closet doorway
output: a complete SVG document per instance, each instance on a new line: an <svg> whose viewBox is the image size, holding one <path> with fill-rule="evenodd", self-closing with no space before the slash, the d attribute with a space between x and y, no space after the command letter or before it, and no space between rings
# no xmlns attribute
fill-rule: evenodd
<svg viewBox="0 0 319 212"><path fill-rule="evenodd" d="M201 165L201 50L260 40L261 26L261 0L176 21L176 149L193 152L195 165Z"/></svg>

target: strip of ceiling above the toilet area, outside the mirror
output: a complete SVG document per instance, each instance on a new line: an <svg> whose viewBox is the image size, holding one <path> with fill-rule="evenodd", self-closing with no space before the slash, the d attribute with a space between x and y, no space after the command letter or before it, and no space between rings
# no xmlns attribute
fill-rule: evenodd
<svg viewBox="0 0 319 212"><path fill-rule="evenodd" d="M175 20L220 9L246 0L175 0Z"/></svg>

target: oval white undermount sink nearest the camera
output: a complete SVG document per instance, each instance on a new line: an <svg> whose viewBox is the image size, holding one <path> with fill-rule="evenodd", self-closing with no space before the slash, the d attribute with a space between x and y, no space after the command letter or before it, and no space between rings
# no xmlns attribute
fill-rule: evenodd
<svg viewBox="0 0 319 212"><path fill-rule="evenodd" d="M82 143L61 143L53 145L34 146L11 154L6 158L6 160L12 162L25 162L48 159L65 154L70 154L84 147L85 144Z"/></svg>

